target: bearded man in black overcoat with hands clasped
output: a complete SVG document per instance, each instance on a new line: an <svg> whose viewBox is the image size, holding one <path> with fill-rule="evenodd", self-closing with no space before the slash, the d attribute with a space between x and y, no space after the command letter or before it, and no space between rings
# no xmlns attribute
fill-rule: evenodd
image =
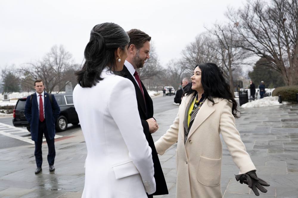
<svg viewBox="0 0 298 198"><path fill-rule="evenodd" d="M167 184L164 179L164 174L162 172L162 167L160 165L151 136L151 133L156 132L158 129L158 124L153 118L153 102L144 84L139 79L138 73L136 72L136 69L144 67L145 61L147 58L150 58L149 50L151 37L138 29L132 29L128 31L127 34L130 38L130 42L128 44L128 57L125 60L123 70L120 72L120 75L128 78L134 83L136 99L138 102L138 109L144 128L144 133L149 146L152 149L156 191L151 195L147 194L147 196L153 197L153 195L169 194L167 190Z"/></svg>

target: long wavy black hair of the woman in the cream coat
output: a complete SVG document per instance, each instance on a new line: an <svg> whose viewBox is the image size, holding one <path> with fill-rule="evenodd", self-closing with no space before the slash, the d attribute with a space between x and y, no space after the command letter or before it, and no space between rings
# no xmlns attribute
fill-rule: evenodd
<svg viewBox="0 0 298 198"><path fill-rule="evenodd" d="M232 96L231 86L226 83L224 76L222 75L222 71L218 68L218 66L214 63L203 63L197 64L195 66L201 69L201 83L204 89L204 95L210 100L213 104L213 97L226 99L231 102L232 105L232 114L235 118L239 118L237 116L237 102ZM188 92L184 93L184 95L189 94L197 94L197 91L193 90L191 87Z"/></svg>

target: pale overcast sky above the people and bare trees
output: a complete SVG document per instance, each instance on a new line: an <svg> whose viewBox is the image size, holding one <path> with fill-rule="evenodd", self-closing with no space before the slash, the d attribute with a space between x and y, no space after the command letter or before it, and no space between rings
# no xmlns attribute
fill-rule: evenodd
<svg viewBox="0 0 298 198"><path fill-rule="evenodd" d="M128 31L140 29L165 66L215 22L223 22L227 7L243 0L1 0L0 67L40 60L54 45L63 45L81 64L90 30L113 22Z"/></svg>

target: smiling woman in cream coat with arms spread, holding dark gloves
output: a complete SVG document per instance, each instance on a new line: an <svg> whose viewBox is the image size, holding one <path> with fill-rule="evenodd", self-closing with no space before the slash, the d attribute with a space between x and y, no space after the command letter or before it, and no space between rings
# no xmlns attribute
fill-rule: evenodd
<svg viewBox="0 0 298 198"><path fill-rule="evenodd" d="M192 87L184 93L175 121L155 142L157 153L162 155L178 141L176 197L222 197L220 133L239 168L236 179L248 184L256 195L257 189L267 192L262 185L269 184L257 178L256 168L235 128L237 102L222 71L213 63L198 64L191 80Z"/></svg>

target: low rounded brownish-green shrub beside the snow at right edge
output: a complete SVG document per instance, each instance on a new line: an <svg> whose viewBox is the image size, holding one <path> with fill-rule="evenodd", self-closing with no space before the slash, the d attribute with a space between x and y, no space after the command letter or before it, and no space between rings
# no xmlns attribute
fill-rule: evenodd
<svg viewBox="0 0 298 198"><path fill-rule="evenodd" d="M272 91L272 96L281 96L282 101L295 103L298 85L278 87Z"/></svg>

